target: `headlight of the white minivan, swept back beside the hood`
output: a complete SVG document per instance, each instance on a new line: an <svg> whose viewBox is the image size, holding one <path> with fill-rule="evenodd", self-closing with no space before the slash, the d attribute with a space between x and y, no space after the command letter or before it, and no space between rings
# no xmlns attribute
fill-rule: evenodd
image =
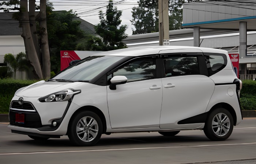
<svg viewBox="0 0 256 164"><path fill-rule="evenodd" d="M56 101L68 101L73 97L74 94L80 93L81 90L67 89L64 91L49 94L45 97L41 97L38 100L40 102L56 102Z"/></svg>

